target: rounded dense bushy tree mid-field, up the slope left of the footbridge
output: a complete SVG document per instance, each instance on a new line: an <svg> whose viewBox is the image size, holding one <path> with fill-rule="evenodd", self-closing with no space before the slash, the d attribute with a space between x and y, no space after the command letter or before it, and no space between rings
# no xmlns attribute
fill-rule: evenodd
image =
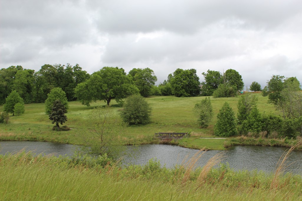
<svg viewBox="0 0 302 201"><path fill-rule="evenodd" d="M123 105L120 116L128 124L148 124L151 121L152 108L143 96L129 96Z"/></svg>

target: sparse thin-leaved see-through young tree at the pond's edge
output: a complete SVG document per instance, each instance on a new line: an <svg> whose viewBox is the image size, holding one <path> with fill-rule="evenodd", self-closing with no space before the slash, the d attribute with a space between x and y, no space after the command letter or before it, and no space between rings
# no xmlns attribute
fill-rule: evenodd
<svg viewBox="0 0 302 201"><path fill-rule="evenodd" d="M83 136L85 151L94 155L117 157L123 149L118 138L121 126L120 119L114 115L110 106L94 108L87 120L89 133Z"/></svg>

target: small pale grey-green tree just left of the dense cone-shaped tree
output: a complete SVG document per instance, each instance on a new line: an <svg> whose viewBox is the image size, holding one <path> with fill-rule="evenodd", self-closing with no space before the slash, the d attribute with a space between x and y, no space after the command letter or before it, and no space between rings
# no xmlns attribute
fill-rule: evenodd
<svg viewBox="0 0 302 201"><path fill-rule="evenodd" d="M213 117L213 107L210 97L202 99L201 102L196 103L193 111L198 117L198 124L201 128L206 128Z"/></svg>

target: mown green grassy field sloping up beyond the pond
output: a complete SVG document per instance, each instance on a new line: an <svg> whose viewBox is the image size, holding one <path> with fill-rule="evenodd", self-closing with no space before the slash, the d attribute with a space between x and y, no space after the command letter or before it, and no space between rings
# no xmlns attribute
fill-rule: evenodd
<svg viewBox="0 0 302 201"><path fill-rule="evenodd" d="M258 96L258 108L260 112L280 114L275 108L267 103L268 98L260 94ZM174 96L152 96L147 101L153 107L152 123L141 126L120 127L120 139L124 144L158 143L154 139L156 132L187 132L191 137L177 142L180 146L189 148L203 148L223 150L224 139L201 139L199 137L213 136L213 127L217 121L217 113L224 102L229 102L235 114L237 102L240 96L233 98L211 98L214 118L209 127L198 127L197 118L192 109L194 105L204 97L177 98ZM112 110L116 115L121 107L112 100ZM0 140L32 140L49 141L70 144L83 144L83 136L88 132L86 123L88 115L94 107L104 106L104 101L93 102L90 107L81 105L79 102L69 102L69 111L66 113L66 125L72 130L53 131L51 121L45 114L44 103L25 104L25 113L20 116L10 116L9 124L0 125ZM0 106L0 111L2 111ZM64 124L65 125L65 124Z"/></svg>

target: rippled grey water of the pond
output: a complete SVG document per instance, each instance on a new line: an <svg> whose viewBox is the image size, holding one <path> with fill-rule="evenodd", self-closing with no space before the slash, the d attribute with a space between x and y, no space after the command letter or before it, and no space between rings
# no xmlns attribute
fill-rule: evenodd
<svg viewBox="0 0 302 201"><path fill-rule="evenodd" d="M79 146L50 142L2 141L0 142L0 154L17 152L25 148L26 151L33 151L37 154L72 155L76 147ZM285 147L269 146L235 146L233 149L224 152L223 163L229 163L234 170L275 171L276 164L286 149ZM127 155L123 158L123 164L144 165L150 159L156 158L162 166L174 168L176 164L182 164L184 160L188 160L196 152L198 152L196 149L161 144L127 146ZM221 151L207 151L197 162L197 167L202 167L219 152ZM292 151L288 158L288 165L285 172L302 174L302 152Z"/></svg>

